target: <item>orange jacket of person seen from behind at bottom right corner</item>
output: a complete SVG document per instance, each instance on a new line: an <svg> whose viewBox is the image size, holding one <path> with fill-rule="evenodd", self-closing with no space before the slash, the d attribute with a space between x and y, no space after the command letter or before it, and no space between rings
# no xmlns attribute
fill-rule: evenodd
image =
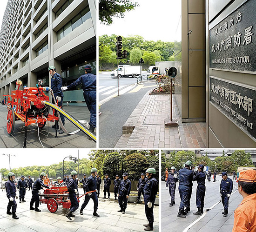
<svg viewBox="0 0 256 232"><path fill-rule="evenodd" d="M235 210L232 232L256 231L256 193L243 199Z"/></svg>

